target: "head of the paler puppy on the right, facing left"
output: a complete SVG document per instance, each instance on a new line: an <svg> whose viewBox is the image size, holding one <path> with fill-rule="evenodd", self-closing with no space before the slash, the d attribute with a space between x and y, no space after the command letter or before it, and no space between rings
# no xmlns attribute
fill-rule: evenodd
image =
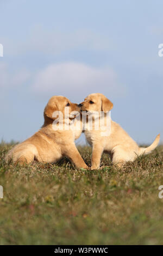
<svg viewBox="0 0 163 256"><path fill-rule="evenodd" d="M82 103L79 104L81 111L90 113L101 112L107 113L113 107L112 102L101 93L92 93L88 95Z"/></svg>

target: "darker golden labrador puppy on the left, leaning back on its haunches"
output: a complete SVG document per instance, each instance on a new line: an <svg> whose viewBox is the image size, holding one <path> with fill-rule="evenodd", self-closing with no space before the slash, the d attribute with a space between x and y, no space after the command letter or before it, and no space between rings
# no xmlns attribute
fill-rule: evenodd
<svg viewBox="0 0 163 256"><path fill-rule="evenodd" d="M71 117L71 113L74 111L79 113L79 106L70 102L66 97L51 97L44 109L45 121L42 128L32 137L12 148L5 160L12 159L13 162L20 164L30 163L34 160L51 163L66 156L77 167L87 169L88 167L74 143L74 139L77 139L82 133L80 118L78 129L69 129L72 121L76 120L74 118L76 115Z"/></svg>

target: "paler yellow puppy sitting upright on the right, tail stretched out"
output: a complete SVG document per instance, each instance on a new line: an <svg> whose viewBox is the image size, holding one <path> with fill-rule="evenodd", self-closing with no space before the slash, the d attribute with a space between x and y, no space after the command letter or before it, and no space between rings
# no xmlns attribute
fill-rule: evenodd
<svg viewBox="0 0 163 256"><path fill-rule="evenodd" d="M103 151L108 151L112 162L121 166L127 161L134 161L139 155L149 154L159 143L160 135L148 148L139 148L120 125L110 119L110 125L107 126L107 119L110 117L107 117L106 113L112 109L113 104L101 93L88 95L79 106L81 111L86 111L88 115L84 130L87 142L92 145L91 169L99 168ZM92 125L89 124L90 121ZM100 124L101 121L103 125Z"/></svg>

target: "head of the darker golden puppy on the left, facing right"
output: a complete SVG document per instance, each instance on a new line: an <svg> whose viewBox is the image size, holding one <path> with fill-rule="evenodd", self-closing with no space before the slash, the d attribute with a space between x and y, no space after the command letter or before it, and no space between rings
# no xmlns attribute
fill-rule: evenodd
<svg viewBox="0 0 163 256"><path fill-rule="evenodd" d="M72 112L79 112L80 108L78 104L72 103L64 96L53 96L49 99L43 115L45 119L55 120L56 118L70 118L73 119L76 116L71 115ZM61 113L61 115L59 114Z"/></svg>

